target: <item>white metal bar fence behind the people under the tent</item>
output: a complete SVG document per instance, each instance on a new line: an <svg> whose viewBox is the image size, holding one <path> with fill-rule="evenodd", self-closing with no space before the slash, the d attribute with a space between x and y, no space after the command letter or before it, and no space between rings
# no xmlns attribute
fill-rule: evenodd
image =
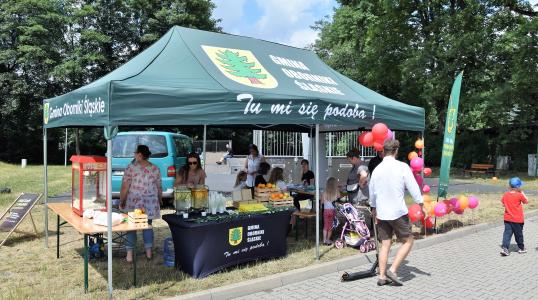
<svg viewBox="0 0 538 300"><path fill-rule="evenodd" d="M331 158L346 157L349 150L358 148L363 157L374 157L374 148L359 145L357 137L361 133L362 131L327 132L325 134L325 155ZM303 156L302 134L298 132L256 130L254 140L255 143L261 145L265 156Z"/></svg>

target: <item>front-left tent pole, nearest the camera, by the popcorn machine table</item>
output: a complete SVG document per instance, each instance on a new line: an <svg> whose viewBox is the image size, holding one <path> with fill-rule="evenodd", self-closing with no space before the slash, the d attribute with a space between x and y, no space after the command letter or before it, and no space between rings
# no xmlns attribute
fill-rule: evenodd
<svg viewBox="0 0 538 300"><path fill-rule="evenodd" d="M106 129L105 129L106 130ZM107 244L108 244L108 299L112 299L112 134L106 141L106 211L107 211Z"/></svg>

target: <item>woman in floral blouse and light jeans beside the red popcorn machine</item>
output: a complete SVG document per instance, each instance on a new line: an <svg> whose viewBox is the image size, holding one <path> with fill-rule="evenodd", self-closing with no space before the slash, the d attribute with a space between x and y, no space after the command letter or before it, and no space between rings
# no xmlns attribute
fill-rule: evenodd
<svg viewBox="0 0 538 300"><path fill-rule="evenodd" d="M120 190L120 209L132 211L143 209L148 215L148 224L161 217L162 182L159 168L148 161L151 152L148 146L138 145L133 162L127 166ZM127 262L133 261L133 249L136 245L136 231L126 234ZM146 257L153 257L153 229L142 231Z"/></svg>

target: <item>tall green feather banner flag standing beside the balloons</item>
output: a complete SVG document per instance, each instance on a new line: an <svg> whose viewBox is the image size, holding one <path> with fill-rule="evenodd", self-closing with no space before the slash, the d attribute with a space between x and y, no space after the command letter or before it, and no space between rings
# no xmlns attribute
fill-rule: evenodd
<svg viewBox="0 0 538 300"><path fill-rule="evenodd" d="M454 154L454 143L456 141L456 127L458 125L458 105L460 102L461 80L463 72L461 72L450 92L450 100L448 100L448 109L446 112L445 136L443 138L443 152L441 155L441 171L439 174L439 197L446 197L448 192L448 180L450 177L450 164L452 163L452 155Z"/></svg>

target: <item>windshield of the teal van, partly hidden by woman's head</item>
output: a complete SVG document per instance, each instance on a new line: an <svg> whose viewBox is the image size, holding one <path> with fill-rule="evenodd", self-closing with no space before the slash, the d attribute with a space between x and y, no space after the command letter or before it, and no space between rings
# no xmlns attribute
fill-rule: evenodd
<svg viewBox="0 0 538 300"><path fill-rule="evenodd" d="M118 135L112 141L112 157L134 157L136 146L146 145L151 152L150 157L168 156L166 138L162 135Z"/></svg>

